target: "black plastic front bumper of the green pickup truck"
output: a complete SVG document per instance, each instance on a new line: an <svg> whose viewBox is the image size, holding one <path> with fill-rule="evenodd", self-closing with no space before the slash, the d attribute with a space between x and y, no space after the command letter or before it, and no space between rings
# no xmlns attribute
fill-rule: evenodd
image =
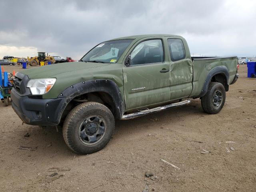
<svg viewBox="0 0 256 192"><path fill-rule="evenodd" d="M20 119L30 125L55 126L60 123L60 118L66 107L67 98L36 99L20 94L12 89L12 108Z"/></svg>

